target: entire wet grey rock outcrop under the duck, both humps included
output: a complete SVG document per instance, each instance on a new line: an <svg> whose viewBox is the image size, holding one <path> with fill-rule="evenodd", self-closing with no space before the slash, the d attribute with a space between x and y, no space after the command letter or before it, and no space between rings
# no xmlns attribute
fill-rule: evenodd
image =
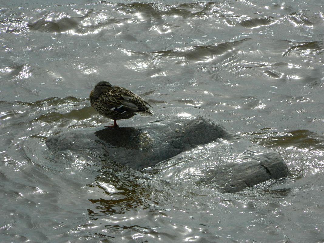
<svg viewBox="0 0 324 243"><path fill-rule="evenodd" d="M226 132L198 109L181 110L162 109L154 117L141 118L145 125L133 119L120 121L130 127L62 132L46 144L54 154L91 154L133 169L153 169L160 179L194 180L226 192L289 175L275 151Z"/></svg>

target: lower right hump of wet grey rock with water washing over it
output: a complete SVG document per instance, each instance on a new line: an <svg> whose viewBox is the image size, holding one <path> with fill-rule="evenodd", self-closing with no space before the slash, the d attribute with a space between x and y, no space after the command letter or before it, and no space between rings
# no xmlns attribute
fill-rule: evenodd
<svg viewBox="0 0 324 243"><path fill-rule="evenodd" d="M170 182L191 181L197 185L237 192L268 179L289 176L281 156L249 140L220 140L181 153L154 168L156 178Z"/></svg>

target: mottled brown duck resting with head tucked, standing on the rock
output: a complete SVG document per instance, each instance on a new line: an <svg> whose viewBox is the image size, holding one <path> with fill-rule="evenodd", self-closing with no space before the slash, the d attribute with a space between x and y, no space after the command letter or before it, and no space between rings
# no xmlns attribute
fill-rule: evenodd
<svg viewBox="0 0 324 243"><path fill-rule="evenodd" d="M143 98L127 88L112 86L106 81L99 82L91 90L90 103L101 115L114 120L114 124L105 127L118 127L116 120L128 119L135 114L153 115L153 111L148 108L150 104Z"/></svg>

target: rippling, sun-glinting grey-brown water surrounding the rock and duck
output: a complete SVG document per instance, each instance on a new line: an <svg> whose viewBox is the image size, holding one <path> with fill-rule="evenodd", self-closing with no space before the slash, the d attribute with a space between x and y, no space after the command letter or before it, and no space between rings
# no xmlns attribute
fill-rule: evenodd
<svg viewBox="0 0 324 243"><path fill-rule="evenodd" d="M55 2L0 5L1 242L324 242L321 0ZM291 178L229 194L55 158L46 138L107 122L101 80L202 109Z"/></svg>

